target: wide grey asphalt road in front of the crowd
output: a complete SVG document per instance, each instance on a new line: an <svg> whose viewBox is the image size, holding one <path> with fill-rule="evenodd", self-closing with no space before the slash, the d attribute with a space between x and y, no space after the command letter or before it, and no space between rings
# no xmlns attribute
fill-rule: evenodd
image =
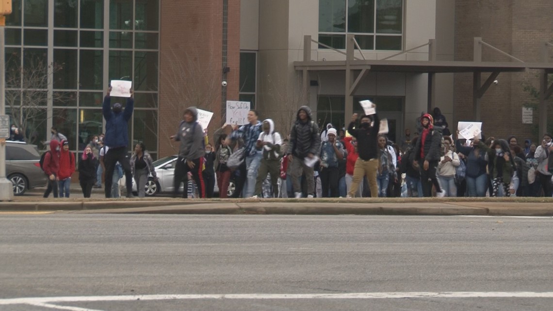
<svg viewBox="0 0 553 311"><path fill-rule="evenodd" d="M552 221L3 213L0 310L549 311Z"/></svg>

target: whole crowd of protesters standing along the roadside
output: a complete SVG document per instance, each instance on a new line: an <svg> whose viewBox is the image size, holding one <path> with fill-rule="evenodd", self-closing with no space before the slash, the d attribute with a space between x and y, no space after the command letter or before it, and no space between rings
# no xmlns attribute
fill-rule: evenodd
<svg viewBox="0 0 553 311"><path fill-rule="evenodd" d="M110 90L102 106L106 134L93 136L79 160L82 193L90 198L93 187L101 188L105 172L106 198L120 196L123 178L128 198L133 179L144 197L147 180L157 179L153 159L143 143L127 155L133 97L124 108L112 106ZM231 180L233 198L553 195L550 134L540 143L526 139L524 146L517 137L486 139L482 132L461 139L439 108L422 113L413 135L406 129L399 143L380 133L378 113L354 113L347 128L328 123L319 131L310 108L302 106L290 131L281 134L273 120L259 121L251 110L246 125L225 124L212 143L197 118L195 107L186 108L170 137L179 146L174 197L213 198L217 184L218 196L227 198ZM43 167L49 177L45 197L51 191L69 197L76 166L68 149L67 139L52 128Z"/></svg>

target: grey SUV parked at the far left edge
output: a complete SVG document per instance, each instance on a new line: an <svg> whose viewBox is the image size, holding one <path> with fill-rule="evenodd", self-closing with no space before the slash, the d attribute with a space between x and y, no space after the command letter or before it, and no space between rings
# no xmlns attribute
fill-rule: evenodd
<svg viewBox="0 0 553 311"><path fill-rule="evenodd" d="M6 176L13 184L14 195L23 195L28 189L48 183L39 162L40 153L35 145L6 142Z"/></svg>

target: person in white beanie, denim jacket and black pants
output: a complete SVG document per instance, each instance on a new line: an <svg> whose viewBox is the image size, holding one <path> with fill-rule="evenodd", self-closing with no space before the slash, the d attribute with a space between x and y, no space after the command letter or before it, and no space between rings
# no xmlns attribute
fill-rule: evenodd
<svg viewBox="0 0 553 311"><path fill-rule="evenodd" d="M340 172L338 163L344 158L344 145L336 138L336 129L329 128L326 132L325 142L321 147L320 172L322 197L338 198L338 181Z"/></svg>

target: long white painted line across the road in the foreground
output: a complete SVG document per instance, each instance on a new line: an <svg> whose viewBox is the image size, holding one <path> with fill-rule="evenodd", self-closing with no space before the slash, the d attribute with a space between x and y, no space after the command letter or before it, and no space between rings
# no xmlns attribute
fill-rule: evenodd
<svg viewBox="0 0 553 311"><path fill-rule="evenodd" d="M341 294L182 294L182 295L127 295L29 297L0 299L0 305L48 304L65 302L132 301L132 300L186 300L186 299L390 299L390 298L553 298L553 292L382 292ZM65 308L65 307L59 307ZM73 308L73 307L67 307ZM67 309L85 311L90 309Z"/></svg>

